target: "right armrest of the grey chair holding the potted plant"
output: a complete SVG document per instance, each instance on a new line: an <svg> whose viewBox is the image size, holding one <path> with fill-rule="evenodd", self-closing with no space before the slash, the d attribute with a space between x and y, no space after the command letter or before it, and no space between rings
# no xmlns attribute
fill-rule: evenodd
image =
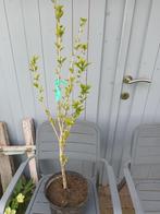
<svg viewBox="0 0 160 214"><path fill-rule="evenodd" d="M112 199L112 204L113 204L113 213L122 214L121 202L120 202L120 198L118 193L116 181L115 181L113 169L104 158L100 158L100 162L104 164L104 167L108 173L111 199Z"/></svg>

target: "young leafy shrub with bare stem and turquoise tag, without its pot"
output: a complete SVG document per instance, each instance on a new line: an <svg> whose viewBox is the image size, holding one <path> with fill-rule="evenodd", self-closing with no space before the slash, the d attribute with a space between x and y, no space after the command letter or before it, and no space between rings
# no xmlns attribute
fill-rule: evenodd
<svg viewBox="0 0 160 214"><path fill-rule="evenodd" d="M59 158L62 171L63 188L67 188L65 164L67 157L65 155L66 140L70 135L71 128L74 126L76 119L85 109L85 102L90 91L90 86L84 81L84 74L88 70L89 62L87 60L88 41L82 41L82 35L85 31L87 19L81 17L78 24L78 33L73 41L71 57L63 56L63 36L67 27L62 24L62 16L64 15L64 7L59 3L59 0L52 0L54 17L56 17L56 66L53 70L53 92L54 104L57 106L56 118L53 119L50 110L45 104L44 87L40 84L40 75L38 72L38 57L34 56L30 60L29 68L33 73L33 84L38 92L38 100L40 102L48 120L50 121L53 131L59 141ZM66 80L63 76L63 67L65 61L70 62L67 69ZM66 68L65 68L66 71ZM48 71L52 72L52 71ZM73 92L76 87L76 95Z"/></svg>

